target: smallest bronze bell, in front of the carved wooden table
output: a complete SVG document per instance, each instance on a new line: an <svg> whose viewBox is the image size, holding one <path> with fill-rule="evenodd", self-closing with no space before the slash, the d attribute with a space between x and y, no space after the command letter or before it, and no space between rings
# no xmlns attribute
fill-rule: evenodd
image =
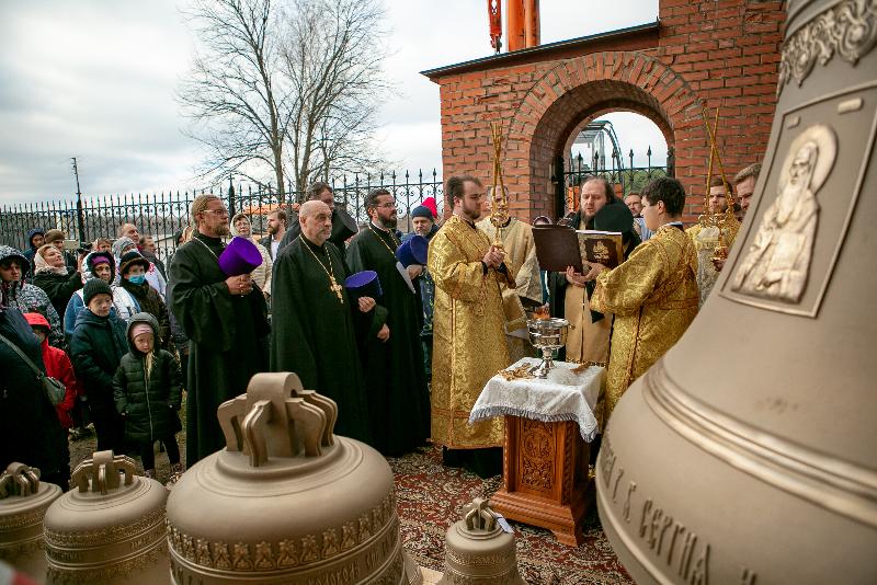
<svg viewBox="0 0 877 585"><path fill-rule="evenodd" d="M445 535L445 573L438 585L526 585L517 572L514 536L500 527L487 501L476 497Z"/></svg>

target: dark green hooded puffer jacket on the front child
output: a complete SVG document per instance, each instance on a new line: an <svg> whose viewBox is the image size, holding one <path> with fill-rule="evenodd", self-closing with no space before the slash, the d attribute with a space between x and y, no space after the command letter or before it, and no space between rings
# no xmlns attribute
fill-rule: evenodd
<svg viewBox="0 0 877 585"><path fill-rule="evenodd" d="M180 365L170 352L156 348L152 367L146 376L146 355L134 345L130 330L135 323L148 323L158 339L158 321L149 313L138 313L128 323L129 352L113 378L116 410L125 418L125 438L152 441L179 429L176 411L182 402Z"/></svg>

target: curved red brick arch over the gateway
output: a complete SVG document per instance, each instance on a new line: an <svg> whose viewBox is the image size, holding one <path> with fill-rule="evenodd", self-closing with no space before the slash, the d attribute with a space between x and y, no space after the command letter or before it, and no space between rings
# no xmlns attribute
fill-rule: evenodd
<svg viewBox="0 0 877 585"><path fill-rule="evenodd" d="M585 119L606 111L641 114L668 146L701 125L702 103L673 69L642 53L594 53L559 62L524 95L506 131L506 183L531 215L554 216L553 164ZM695 130L697 131L697 130Z"/></svg>

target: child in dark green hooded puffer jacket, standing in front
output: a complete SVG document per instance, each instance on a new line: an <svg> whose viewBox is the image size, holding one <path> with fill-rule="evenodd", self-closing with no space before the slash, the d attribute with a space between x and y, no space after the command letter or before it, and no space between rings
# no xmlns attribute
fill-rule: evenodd
<svg viewBox="0 0 877 585"><path fill-rule="evenodd" d="M116 410L125 420L125 438L139 447L145 475L153 479L156 440L168 449L172 478L183 471L174 437L180 429L176 411L182 402L180 366L170 352L158 347L159 339L158 320L146 312L135 314L127 331L130 351L113 378Z"/></svg>

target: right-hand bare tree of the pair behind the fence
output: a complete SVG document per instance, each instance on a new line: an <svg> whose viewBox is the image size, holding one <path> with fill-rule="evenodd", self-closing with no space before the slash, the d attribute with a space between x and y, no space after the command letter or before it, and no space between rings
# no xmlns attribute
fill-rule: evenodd
<svg viewBox="0 0 877 585"><path fill-rule="evenodd" d="M286 156L296 184L381 163L373 140L387 57L377 0L296 0L285 72L293 122Z"/></svg>

